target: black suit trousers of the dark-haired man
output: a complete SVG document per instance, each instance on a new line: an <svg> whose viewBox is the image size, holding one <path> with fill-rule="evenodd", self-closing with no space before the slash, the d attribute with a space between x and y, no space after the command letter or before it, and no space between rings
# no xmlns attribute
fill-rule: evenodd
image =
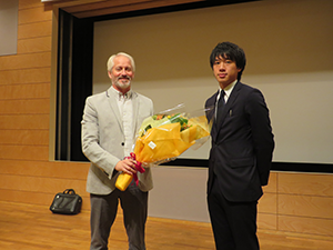
<svg viewBox="0 0 333 250"><path fill-rule="evenodd" d="M253 202L231 202L224 198L218 179L208 196L208 206L216 250L259 250L256 206Z"/></svg>

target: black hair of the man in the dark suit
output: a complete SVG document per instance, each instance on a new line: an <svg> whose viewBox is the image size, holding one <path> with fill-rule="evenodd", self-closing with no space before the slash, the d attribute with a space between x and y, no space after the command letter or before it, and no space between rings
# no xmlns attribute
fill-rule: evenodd
<svg viewBox="0 0 333 250"><path fill-rule="evenodd" d="M238 80L241 80L242 73L246 64L245 53L242 48L232 42L220 42L213 49L210 57L210 64L212 69L218 58L230 59L234 61L238 69L242 69L238 74Z"/></svg>

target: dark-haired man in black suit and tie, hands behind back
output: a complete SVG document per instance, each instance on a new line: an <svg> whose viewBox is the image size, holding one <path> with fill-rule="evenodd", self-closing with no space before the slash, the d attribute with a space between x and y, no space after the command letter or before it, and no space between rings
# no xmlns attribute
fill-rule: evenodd
<svg viewBox="0 0 333 250"><path fill-rule="evenodd" d="M269 181L273 133L263 94L240 82L244 51L219 43L210 64L220 89L205 102L214 119L208 206L218 250L258 250L256 206Z"/></svg>

